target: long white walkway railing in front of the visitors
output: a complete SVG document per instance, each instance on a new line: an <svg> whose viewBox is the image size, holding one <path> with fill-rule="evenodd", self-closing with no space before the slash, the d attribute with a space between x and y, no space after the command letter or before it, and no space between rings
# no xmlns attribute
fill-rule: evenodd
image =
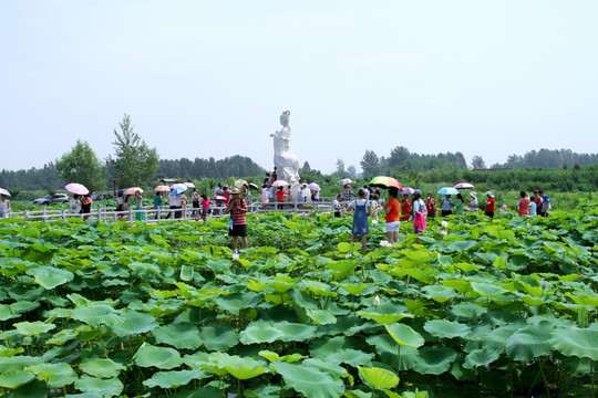
<svg viewBox="0 0 598 398"><path fill-rule="evenodd" d="M251 202L248 205L250 213L269 212L269 211L287 211L287 212L306 212L306 211L332 211L333 198L321 198L318 202L287 201L287 202ZM226 216L224 213L225 206L212 206L207 217L219 218ZM45 207L42 210L12 212L11 218L24 218L30 221L51 222L66 220L70 218L82 218L85 220L95 221L135 221L137 217L145 223L177 221L177 220L200 220L202 209L192 206L184 206L179 209L144 207L142 210L130 208L124 211L115 211L106 207L96 207L90 213L71 213L66 209L48 210ZM141 214L141 216L138 216Z"/></svg>

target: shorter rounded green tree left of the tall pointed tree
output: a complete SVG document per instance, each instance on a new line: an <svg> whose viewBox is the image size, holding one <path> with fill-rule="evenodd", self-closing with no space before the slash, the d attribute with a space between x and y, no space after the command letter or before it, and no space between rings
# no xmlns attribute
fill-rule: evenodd
<svg viewBox="0 0 598 398"><path fill-rule="evenodd" d="M106 187L106 166L87 142L78 139L71 151L56 160L55 168L65 181L83 184L92 192Z"/></svg>

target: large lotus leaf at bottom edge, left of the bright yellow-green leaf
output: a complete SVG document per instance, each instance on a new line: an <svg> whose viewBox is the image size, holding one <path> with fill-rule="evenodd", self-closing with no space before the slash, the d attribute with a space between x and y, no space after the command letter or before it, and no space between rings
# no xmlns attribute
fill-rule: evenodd
<svg viewBox="0 0 598 398"><path fill-rule="evenodd" d="M337 398L344 390L340 378L332 378L315 367L282 362L275 362L271 366L282 376L286 386L306 397Z"/></svg>

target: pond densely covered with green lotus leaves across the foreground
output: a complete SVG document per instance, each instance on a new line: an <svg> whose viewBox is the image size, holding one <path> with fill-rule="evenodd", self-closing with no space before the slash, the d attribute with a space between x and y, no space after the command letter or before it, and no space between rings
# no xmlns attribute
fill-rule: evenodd
<svg viewBox="0 0 598 398"><path fill-rule="evenodd" d="M431 220L0 222L0 395L594 396L598 203Z"/></svg>

